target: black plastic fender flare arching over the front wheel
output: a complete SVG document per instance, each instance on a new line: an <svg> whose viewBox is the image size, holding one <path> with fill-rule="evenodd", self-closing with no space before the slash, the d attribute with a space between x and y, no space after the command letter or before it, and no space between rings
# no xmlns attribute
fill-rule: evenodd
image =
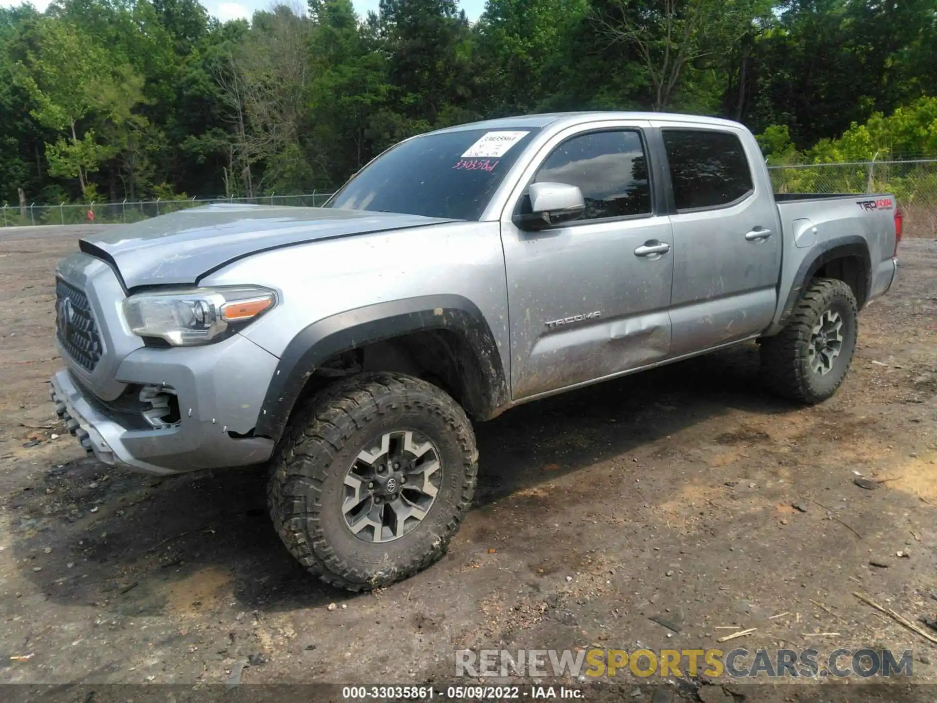
<svg viewBox="0 0 937 703"><path fill-rule="evenodd" d="M487 419L510 403L498 345L482 311L460 295L426 295L377 303L313 322L292 338L280 356L255 427L255 436L278 441L305 382L326 359L366 344L427 330L461 338L476 367L466 404ZM471 375L471 374L469 374Z"/></svg>

